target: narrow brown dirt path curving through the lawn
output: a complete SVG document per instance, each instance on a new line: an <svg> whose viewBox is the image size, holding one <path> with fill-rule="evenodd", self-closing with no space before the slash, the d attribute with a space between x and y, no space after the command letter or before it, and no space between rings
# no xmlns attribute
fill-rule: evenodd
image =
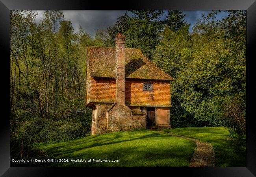
<svg viewBox="0 0 256 177"><path fill-rule="evenodd" d="M164 131L160 131L166 133ZM187 138L180 135L169 134L171 136L178 136L181 138L185 138L187 140L191 140L196 143L197 147L191 159L190 167L214 167L215 162L215 154L213 150L213 146L209 143L202 142L200 140L194 138Z"/></svg>

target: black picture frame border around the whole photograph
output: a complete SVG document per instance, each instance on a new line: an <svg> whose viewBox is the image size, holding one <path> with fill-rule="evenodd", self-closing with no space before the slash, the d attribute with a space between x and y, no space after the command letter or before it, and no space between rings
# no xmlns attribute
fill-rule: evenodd
<svg viewBox="0 0 256 177"><path fill-rule="evenodd" d="M137 170L138 168L36 168L36 167L11 167L10 168L10 137L9 137L9 15L10 10L18 9L63 9L63 10L89 10L89 9L180 9L180 10L247 10L247 165L246 167L230 168L154 168L148 170L149 174L154 171L156 174L163 171L170 174L177 173L189 176L208 176L208 177L251 177L256 176L256 133L254 127L253 107L255 100L254 90L256 89L252 79L255 75L253 60L256 57L256 2L255 0L141 0L141 1L83 1L83 0L0 0L0 49L2 54L1 77L4 80L4 91L2 94L2 120L0 123L0 175L2 176L53 176L54 173L63 176L74 175L80 172L89 175L90 172L98 174L102 170ZM4 63L2 63L4 62ZM3 93L3 92L2 92ZM161 171L161 172L160 172ZM147 172L147 173L148 173ZM121 173L122 174L122 173ZM121 175L120 174L120 175Z"/></svg>

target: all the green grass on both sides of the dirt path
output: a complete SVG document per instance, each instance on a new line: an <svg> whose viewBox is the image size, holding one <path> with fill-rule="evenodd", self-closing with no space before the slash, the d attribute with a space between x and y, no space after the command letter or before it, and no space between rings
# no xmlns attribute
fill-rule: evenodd
<svg viewBox="0 0 256 177"><path fill-rule="evenodd" d="M168 133L196 138L213 145L215 166L246 166L245 142L229 138L224 127L166 129ZM46 166L189 166L195 143L149 130L120 131L88 136L79 140L41 146L48 159L118 159L119 162L53 162Z"/></svg>

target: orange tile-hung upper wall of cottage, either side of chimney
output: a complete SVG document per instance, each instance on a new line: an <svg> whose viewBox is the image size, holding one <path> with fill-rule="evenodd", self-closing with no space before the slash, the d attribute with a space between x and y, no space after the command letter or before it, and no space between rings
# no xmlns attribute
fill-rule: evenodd
<svg viewBox="0 0 256 177"><path fill-rule="evenodd" d="M90 78L90 92L87 92L87 103L115 103L115 78ZM125 103L132 106L171 107L171 85L169 81L152 81L153 91L143 91L147 80L125 81Z"/></svg>

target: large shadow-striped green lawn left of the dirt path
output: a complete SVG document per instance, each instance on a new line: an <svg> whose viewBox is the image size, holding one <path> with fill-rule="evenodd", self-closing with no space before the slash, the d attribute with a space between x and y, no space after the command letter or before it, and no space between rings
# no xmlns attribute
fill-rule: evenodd
<svg viewBox="0 0 256 177"><path fill-rule="evenodd" d="M79 140L39 147L48 159L47 166L189 166L196 144L190 140L149 130L106 133ZM70 162L71 159L119 159L119 162Z"/></svg>

